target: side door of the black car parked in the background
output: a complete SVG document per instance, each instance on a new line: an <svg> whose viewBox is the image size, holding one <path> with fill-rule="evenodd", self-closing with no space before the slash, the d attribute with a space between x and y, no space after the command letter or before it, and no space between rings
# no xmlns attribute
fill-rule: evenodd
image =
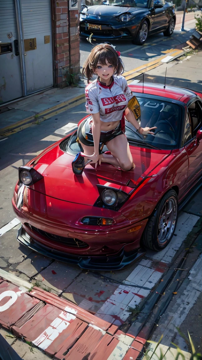
<svg viewBox="0 0 202 360"><path fill-rule="evenodd" d="M151 3L151 27L150 32L158 32L166 30L168 26L168 18L166 16L167 5L165 0L153 0Z"/></svg>

